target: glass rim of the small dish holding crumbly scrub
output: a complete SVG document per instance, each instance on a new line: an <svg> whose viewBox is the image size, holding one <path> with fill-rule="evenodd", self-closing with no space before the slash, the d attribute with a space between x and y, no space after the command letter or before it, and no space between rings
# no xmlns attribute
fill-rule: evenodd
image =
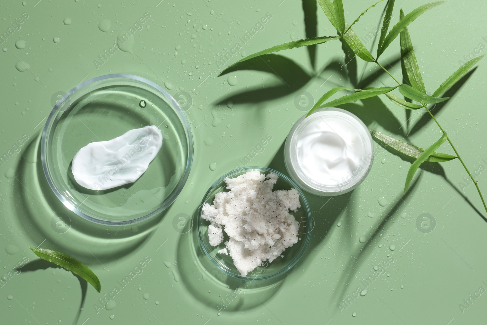
<svg viewBox="0 0 487 325"><path fill-rule="evenodd" d="M268 167L259 167L259 166L249 166L249 167L243 167L243 168L238 168L238 169L235 169L233 171L230 171L230 172L227 172L225 173L223 176L221 176L217 181L215 181L211 186L210 188L208 189L208 191L206 191L202 201L201 201L201 204L198 208L198 214L197 214L197 225L196 227L198 228L198 238L199 238L199 241L200 241L200 245L201 247L203 248L203 251L205 252L206 256L210 259L210 261L217 267L219 268L220 270L224 271L226 274L234 277L234 278L237 278L237 279L241 279L241 280L249 280L249 281L262 281L262 280L269 280L269 279L272 279L272 278L276 278L282 274L284 274L285 272L287 272L289 269L291 269L292 267L294 267L296 265L296 263L298 263L298 261L300 260L300 258L302 257L302 255L304 254L304 251L306 250L307 246L308 246L308 243L309 243L309 240L311 238L311 230L308 231L307 233L305 233L303 237L305 238L302 238L301 240L304 241L302 245L302 248L300 249L300 252L298 253L298 255L296 257L294 257L293 261L286 267L286 268L283 268L282 270L280 270L279 272L277 272L276 274L272 274L272 275L269 275L269 276L266 276L266 277L262 277L262 278L251 278L251 277L246 277L246 276L243 276L243 275L238 275L238 274L235 274L235 273L232 273L232 272L229 272L228 270L226 270L225 268L222 268L222 266L220 265L220 263L217 263L214 258L211 256L210 252L207 251L205 245L203 245L203 233L201 232L201 214L202 214L202 211L203 211L203 205L206 203L206 199L208 198L209 194L218 187L218 185L228 176L232 175L232 174L236 174L236 173L239 173L239 172L245 172L245 171L252 171L252 170L259 170L259 171L265 171L265 172L273 172L275 174L277 174L279 177L282 177L285 181L287 181L289 184L291 184L292 187L294 187L298 193L300 194L300 197L302 197L302 201L303 201L303 205L304 207L301 206L301 209L304 208L305 212L306 212L306 216L307 216L307 220L306 222L309 223L309 225L312 224L312 217L311 217L311 210L309 208L309 204L308 204L308 201L306 199L306 197L304 196L304 193L301 191L300 187L298 185L296 185L296 183L289 177L287 177L286 175L284 175L283 173L281 172L278 172L276 170L273 170L272 168L268 168ZM272 262L271 262L272 263Z"/></svg>

